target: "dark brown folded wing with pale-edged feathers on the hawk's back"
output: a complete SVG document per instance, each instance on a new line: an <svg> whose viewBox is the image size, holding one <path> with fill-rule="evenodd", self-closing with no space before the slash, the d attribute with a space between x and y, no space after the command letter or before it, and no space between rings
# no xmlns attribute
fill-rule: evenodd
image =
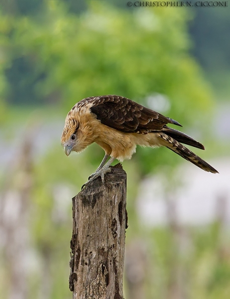
<svg viewBox="0 0 230 299"><path fill-rule="evenodd" d="M168 123L181 126L176 121L121 96L100 96L83 101L93 103L90 110L102 124L124 133L157 132Z"/></svg>

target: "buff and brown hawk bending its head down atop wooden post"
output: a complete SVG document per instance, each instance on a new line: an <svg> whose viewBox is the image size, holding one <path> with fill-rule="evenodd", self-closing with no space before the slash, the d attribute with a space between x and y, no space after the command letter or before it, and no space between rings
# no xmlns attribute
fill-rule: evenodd
<svg viewBox="0 0 230 299"><path fill-rule="evenodd" d="M177 121L142 106L126 97L105 95L79 101L68 113L61 144L67 156L81 152L92 143L105 151L104 158L85 187L98 176L104 183L104 174L111 171L111 163L130 159L137 146L166 147L201 169L219 173L213 166L184 145L198 149L204 146L190 136L168 127L182 127Z"/></svg>

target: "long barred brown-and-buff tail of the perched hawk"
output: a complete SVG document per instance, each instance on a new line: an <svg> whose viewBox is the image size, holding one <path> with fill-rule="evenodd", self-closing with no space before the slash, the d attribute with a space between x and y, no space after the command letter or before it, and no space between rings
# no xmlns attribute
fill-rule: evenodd
<svg viewBox="0 0 230 299"><path fill-rule="evenodd" d="M200 167L201 169L203 169L205 171L212 172L212 173L219 173L213 166L208 164L205 160L200 158L194 152L187 149L181 143L179 143L177 140L168 136L167 133L166 134L165 133L158 133L158 137L161 140L163 140L163 146L165 146L168 149L171 149L172 151L174 151L175 153L180 155L182 158L190 161L191 163L195 164L196 166ZM194 141L194 142L197 143L196 141ZM190 145L194 146L192 143L190 143Z"/></svg>

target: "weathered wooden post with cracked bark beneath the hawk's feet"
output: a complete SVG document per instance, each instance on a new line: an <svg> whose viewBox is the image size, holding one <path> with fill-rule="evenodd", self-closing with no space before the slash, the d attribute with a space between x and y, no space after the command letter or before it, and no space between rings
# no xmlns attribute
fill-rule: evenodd
<svg viewBox="0 0 230 299"><path fill-rule="evenodd" d="M111 167L73 198L70 290L73 299L123 299L126 173Z"/></svg>

